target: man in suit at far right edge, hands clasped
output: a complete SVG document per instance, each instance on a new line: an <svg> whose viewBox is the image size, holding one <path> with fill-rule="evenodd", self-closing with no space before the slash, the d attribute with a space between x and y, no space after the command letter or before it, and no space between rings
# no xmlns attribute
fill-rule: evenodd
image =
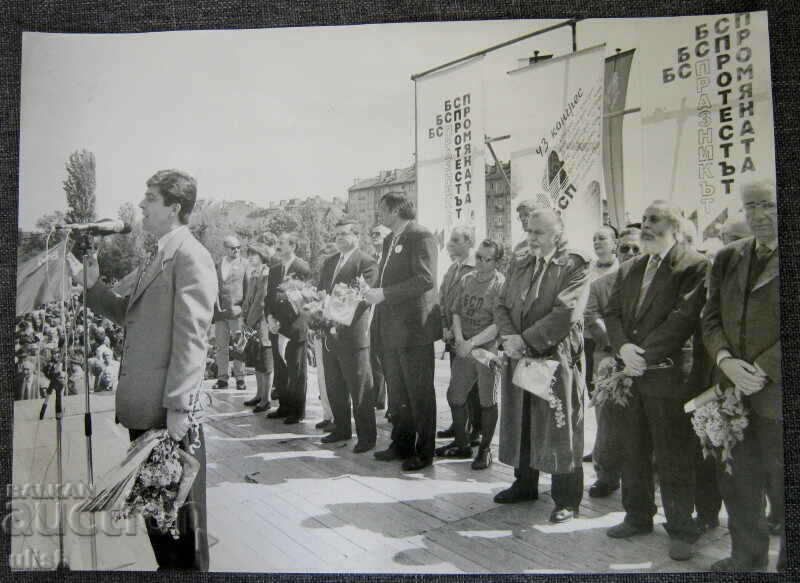
<svg viewBox="0 0 800 583"><path fill-rule="evenodd" d="M741 193L753 237L717 253L703 312L703 338L716 362L720 386L735 385L750 411L744 439L732 452L732 473L718 473L732 549L730 557L712 565L714 571L764 570L769 553L765 493L778 514L784 504L775 186L771 181L750 183ZM784 567L782 538L778 568Z"/></svg>

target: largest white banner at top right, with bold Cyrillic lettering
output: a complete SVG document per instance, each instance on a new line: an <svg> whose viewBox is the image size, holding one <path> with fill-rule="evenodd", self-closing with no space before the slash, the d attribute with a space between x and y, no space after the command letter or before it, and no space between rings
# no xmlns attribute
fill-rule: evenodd
<svg viewBox="0 0 800 583"><path fill-rule="evenodd" d="M650 32L671 40L646 42ZM641 38L648 198L674 201L701 240L718 237L741 183L775 176L767 13L646 19Z"/></svg>

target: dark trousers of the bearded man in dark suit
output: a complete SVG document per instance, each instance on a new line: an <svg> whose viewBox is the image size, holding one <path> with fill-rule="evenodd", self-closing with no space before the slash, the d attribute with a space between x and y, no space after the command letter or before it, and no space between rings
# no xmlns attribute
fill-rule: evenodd
<svg viewBox="0 0 800 583"><path fill-rule="evenodd" d="M626 455L622 462L625 521L650 528L656 513L653 455L658 466L661 501L672 538L694 542L695 438L683 400L661 399L634 391L624 408Z"/></svg>

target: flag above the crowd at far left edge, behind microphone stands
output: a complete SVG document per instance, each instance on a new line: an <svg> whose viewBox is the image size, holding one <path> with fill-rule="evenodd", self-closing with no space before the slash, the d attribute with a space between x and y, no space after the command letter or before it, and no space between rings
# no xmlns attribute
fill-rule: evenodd
<svg viewBox="0 0 800 583"><path fill-rule="evenodd" d="M65 239L17 268L17 316L60 300L64 292L71 293L70 269L65 265L70 259L77 261L72 253L67 253Z"/></svg>

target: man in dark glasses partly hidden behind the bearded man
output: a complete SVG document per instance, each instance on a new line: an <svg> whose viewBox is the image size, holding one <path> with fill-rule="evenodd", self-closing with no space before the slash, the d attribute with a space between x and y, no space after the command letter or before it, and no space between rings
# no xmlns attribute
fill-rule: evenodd
<svg viewBox="0 0 800 583"><path fill-rule="evenodd" d="M589 303L586 305L584 314L584 326L594 339L595 353L592 360L596 365L603 358L612 354L611 342L608 339L604 320L608 309L608 299L616 281L619 264L639 255L641 251L640 235L641 231L636 227L623 229L617 246L616 269L592 282ZM589 388L591 389L591 387ZM597 437L594 442L592 460L597 473L597 481L589 488L589 496L605 498L619 489L622 473L620 454L623 444L619 439L618 427L622 423L622 419L619 407L611 403L598 407L596 414Z"/></svg>

